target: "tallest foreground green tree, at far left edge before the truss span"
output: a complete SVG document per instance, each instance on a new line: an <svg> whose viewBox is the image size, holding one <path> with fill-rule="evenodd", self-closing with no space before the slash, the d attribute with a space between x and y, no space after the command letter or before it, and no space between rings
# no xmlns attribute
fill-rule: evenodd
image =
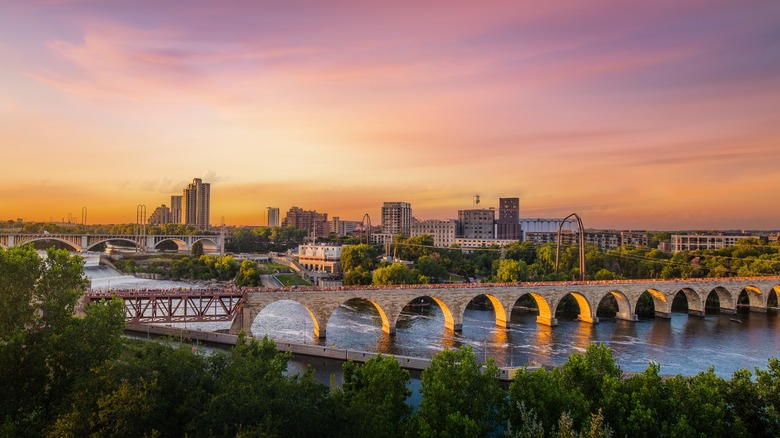
<svg viewBox="0 0 780 438"><path fill-rule="evenodd" d="M18 300L6 313L0 342L0 418L18 435L40 434L72 403L73 388L91 370L116 357L124 329L120 300L86 307L73 316L87 285L83 261L49 250L41 260L30 247L0 251L3 292ZM13 285L13 286L11 286Z"/></svg>

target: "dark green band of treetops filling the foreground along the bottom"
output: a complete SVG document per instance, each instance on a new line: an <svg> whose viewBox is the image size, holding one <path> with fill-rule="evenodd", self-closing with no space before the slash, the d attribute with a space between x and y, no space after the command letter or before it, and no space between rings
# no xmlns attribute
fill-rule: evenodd
<svg viewBox="0 0 780 438"><path fill-rule="evenodd" d="M73 316L82 263L0 250L0 436L780 436L777 359L730 380L667 378L656 364L626 375L591 345L503 389L466 347L432 359L413 410L409 373L390 357L345 363L339 388L290 375L267 339L212 354L123 340L121 301Z"/></svg>

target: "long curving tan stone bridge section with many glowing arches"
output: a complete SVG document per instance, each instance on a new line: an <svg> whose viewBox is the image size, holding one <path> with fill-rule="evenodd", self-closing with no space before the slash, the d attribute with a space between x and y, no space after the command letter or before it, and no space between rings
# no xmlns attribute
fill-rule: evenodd
<svg viewBox="0 0 780 438"><path fill-rule="evenodd" d="M414 300L429 297L444 313L445 326L460 331L466 306L482 295L492 304L496 324L501 327L506 327L512 309L525 296L536 302L539 324L558 324L555 312L567 295L577 301L582 321L598 323L596 311L608 296L617 301L617 318L636 321L637 302L645 294L652 298L656 316L662 318L671 317L672 301L678 294L687 300L691 315L704 316L705 304L711 294L717 296L721 313L736 313L740 298L746 303L739 305L749 305L754 312L766 312L777 306L780 277L261 289L247 293L230 330L231 333L241 329L251 333L252 322L265 307L277 301L292 300L308 311L315 336L325 338L325 328L336 308L350 300L363 300L376 308L382 330L394 334L401 310Z"/></svg>

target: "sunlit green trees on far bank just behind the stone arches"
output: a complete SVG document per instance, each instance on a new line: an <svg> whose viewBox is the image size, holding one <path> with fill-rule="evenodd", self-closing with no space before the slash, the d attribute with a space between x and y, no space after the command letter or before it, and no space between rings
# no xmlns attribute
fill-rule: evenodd
<svg viewBox="0 0 780 438"><path fill-rule="evenodd" d="M566 281L580 277L576 245L561 248L557 272L554 243L518 242L504 248L482 247L463 252L457 247L434 247L430 236L408 239L396 236L395 242L385 249L396 259L413 262L409 270L415 275L396 275L396 278L405 278L402 281L405 283L445 282L452 276L460 281L473 278L502 283ZM345 247L341 259L344 283L398 284L387 282L387 272L371 275L371 270L377 267L387 271L386 266L377 264L380 251L379 247L366 244ZM360 254L359 263L354 262L355 252ZM595 245L586 244L585 261L588 280L780 275L780 244L744 239L724 249L678 253L633 246L602 252Z"/></svg>

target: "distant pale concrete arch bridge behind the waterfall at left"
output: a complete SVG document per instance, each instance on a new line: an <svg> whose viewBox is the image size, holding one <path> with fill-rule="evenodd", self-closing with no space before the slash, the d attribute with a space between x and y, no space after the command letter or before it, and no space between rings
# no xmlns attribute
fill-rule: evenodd
<svg viewBox="0 0 780 438"><path fill-rule="evenodd" d="M127 235L127 234L54 234L54 233L36 233L36 234L0 234L0 247L10 248L20 246L26 243L54 240L62 242L75 251L89 251L95 246L106 242L128 242L140 251L155 251L157 246L163 242L170 241L175 243L180 251L191 251L193 245L197 242L212 244L221 251L223 248L223 237L221 235Z"/></svg>

